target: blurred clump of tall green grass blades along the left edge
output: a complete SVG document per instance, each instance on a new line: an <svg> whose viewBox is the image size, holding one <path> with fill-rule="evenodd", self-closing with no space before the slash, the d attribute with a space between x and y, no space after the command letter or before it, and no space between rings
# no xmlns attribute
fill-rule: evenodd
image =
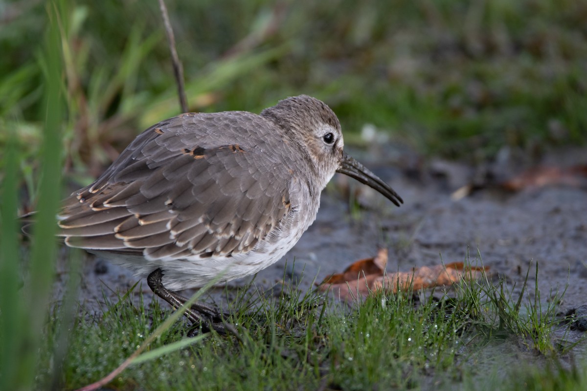
<svg viewBox="0 0 587 391"><path fill-rule="evenodd" d="M8 124L9 131L2 132L5 138L3 145L2 175L0 175L0 389L31 390L35 385L37 363L43 330L45 329L47 308L52 302L53 281L55 276L55 260L57 243L55 232L55 214L59 208L62 178L62 122L65 117L64 91L61 88L60 74L63 69L62 37L69 31L68 21L61 18L65 15L65 1L55 1L46 9L50 23L43 25L42 39L39 40L38 56L35 66L24 67L23 71L38 68L42 70L39 79L37 103L40 115L36 121L42 132L38 135L35 145L38 149L39 185L38 212L35 214L35 225L32 227L30 256L23 256L19 249L18 195L19 165L23 162L18 155L20 134L14 132L14 126ZM4 30L2 30L4 31ZM8 76L10 79L11 76ZM19 86L14 84L15 89ZM9 89L2 87L2 90ZM8 123L8 121L6 121ZM16 123L16 120L14 121ZM24 121L23 121L24 122ZM4 121L2 121L4 125ZM13 131L11 131L13 130ZM29 179L31 175L29 175ZM68 310L63 311L62 327L59 335L66 336L65 328L73 322L73 297L77 290L76 268L71 269L74 277L68 284L69 294L64 302ZM23 283L26 281L26 283ZM23 285L22 287L20 285ZM60 361L66 351L66 338L58 338L61 342L55 349L53 362L60 368ZM59 370L55 372L58 373ZM55 375L57 381L58 375ZM58 389L53 383L51 389Z"/></svg>

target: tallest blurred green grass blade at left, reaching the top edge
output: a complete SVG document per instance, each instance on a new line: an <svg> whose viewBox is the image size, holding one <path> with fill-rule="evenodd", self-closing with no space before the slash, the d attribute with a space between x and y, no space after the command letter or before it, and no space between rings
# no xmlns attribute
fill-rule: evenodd
<svg viewBox="0 0 587 391"><path fill-rule="evenodd" d="M19 361L21 387L32 389L35 379L38 347L41 343L46 308L51 297L56 246L55 214L59 206L61 183L62 138L60 128L63 118L62 96L62 50L59 23L64 15L65 2L52 1L47 6L49 16L47 40L42 57L45 69L45 129L41 148L41 185L37 205L36 223L33 227L29 281L25 285L24 297L28 302L28 321L21 327L25 330L28 349Z"/></svg>

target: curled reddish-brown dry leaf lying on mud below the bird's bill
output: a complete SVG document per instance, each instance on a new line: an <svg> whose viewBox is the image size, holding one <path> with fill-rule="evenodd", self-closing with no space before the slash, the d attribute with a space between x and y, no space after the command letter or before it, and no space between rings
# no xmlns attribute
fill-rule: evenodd
<svg viewBox="0 0 587 391"><path fill-rule="evenodd" d="M474 280L481 276L483 267L467 267L462 262L446 265L423 266L411 271L385 273L387 250L377 252L374 258L363 259L351 264L343 273L325 278L319 285L322 291L332 290L346 301L367 297L384 289L397 293L398 290L418 291L426 288L452 285L461 279Z"/></svg>

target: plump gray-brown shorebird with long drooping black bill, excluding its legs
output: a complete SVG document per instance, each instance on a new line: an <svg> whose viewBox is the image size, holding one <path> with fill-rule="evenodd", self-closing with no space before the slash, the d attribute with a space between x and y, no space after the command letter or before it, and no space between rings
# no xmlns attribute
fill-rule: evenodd
<svg viewBox="0 0 587 391"><path fill-rule="evenodd" d="M294 246L336 171L402 202L344 154L338 118L315 98L288 98L260 115L182 114L144 131L66 199L60 236L140 276L157 271L159 291L219 274L227 281Z"/></svg>

